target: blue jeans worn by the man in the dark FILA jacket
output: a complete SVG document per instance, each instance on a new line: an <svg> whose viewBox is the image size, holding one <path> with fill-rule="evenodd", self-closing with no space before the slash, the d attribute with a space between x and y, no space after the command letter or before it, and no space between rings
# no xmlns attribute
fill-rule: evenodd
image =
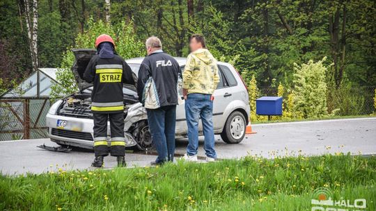
<svg viewBox="0 0 376 211"><path fill-rule="evenodd" d="M152 143L157 149L155 162L173 161L175 153L176 105L146 109Z"/></svg>

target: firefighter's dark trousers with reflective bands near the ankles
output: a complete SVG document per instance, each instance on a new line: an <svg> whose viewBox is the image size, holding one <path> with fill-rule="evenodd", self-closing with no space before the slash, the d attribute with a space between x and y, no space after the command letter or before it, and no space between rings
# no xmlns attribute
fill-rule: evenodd
<svg viewBox="0 0 376 211"><path fill-rule="evenodd" d="M95 156L107 156L109 151L112 156L125 155L124 114L93 113L94 119L94 152ZM107 143L107 121L110 122L111 144Z"/></svg>

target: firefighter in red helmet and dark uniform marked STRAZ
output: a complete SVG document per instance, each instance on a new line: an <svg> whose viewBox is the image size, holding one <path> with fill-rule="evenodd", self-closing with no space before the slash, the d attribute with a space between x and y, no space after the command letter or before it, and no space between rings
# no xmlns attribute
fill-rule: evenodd
<svg viewBox="0 0 376 211"><path fill-rule="evenodd" d="M115 52L109 35L95 40L97 53L91 58L84 79L93 83L91 111L94 119L93 167L102 167L104 156L116 156L119 167L125 167L123 83L134 85L132 69ZM107 143L107 121L110 122L111 142ZM110 145L110 147L108 146Z"/></svg>

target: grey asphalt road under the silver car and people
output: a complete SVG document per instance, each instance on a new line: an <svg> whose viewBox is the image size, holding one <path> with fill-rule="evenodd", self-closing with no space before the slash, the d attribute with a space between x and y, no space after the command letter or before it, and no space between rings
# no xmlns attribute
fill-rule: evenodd
<svg viewBox="0 0 376 211"><path fill-rule="evenodd" d="M218 157L261 155L273 158L276 155L322 155L338 152L376 154L376 118L256 124L252 128L257 133L246 135L240 144L225 144L220 136L216 136ZM49 139L0 142L1 174L40 174L59 167L67 170L87 169L93 160L92 151L57 153L36 147L43 143L56 146ZM176 143L177 156L184 154L187 139L177 140ZM203 138L198 155L205 156ZM155 159L155 155L127 153L126 159L129 167L146 166ZM115 158L105 158L105 167L115 165Z"/></svg>

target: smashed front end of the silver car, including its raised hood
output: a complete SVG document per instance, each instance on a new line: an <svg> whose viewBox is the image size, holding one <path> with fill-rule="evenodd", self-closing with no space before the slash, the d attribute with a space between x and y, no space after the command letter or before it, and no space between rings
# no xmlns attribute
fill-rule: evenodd
<svg viewBox="0 0 376 211"><path fill-rule="evenodd" d="M93 113L91 112L93 84L84 81L83 76L88 62L95 55L95 50L74 49L72 51L75 55L72 72L79 92L56 101L49 109L46 116L49 138L62 146L93 149ZM135 75L134 78L136 78ZM124 84L123 96L126 144L148 151L152 149L152 141L148 130L146 110L138 101L136 87ZM109 127L107 134L110 135Z"/></svg>

